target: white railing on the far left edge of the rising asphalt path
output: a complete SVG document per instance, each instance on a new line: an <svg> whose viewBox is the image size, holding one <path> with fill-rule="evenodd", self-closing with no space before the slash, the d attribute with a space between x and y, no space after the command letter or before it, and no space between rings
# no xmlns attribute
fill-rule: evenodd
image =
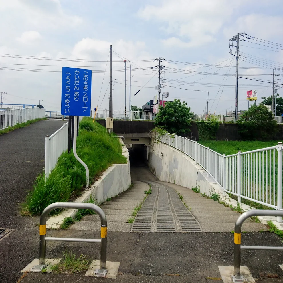
<svg viewBox="0 0 283 283"><path fill-rule="evenodd" d="M0 110L0 130L37 118L45 118L45 109L21 108Z"/></svg>

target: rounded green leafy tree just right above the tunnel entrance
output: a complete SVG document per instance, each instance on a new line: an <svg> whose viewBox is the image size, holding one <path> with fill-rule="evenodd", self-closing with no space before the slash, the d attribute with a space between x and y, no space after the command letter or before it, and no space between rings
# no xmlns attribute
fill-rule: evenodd
<svg viewBox="0 0 283 283"><path fill-rule="evenodd" d="M167 101L164 107L159 106L154 124L169 133L185 135L190 131L190 119L193 115L190 110L185 101L181 102L179 99Z"/></svg>

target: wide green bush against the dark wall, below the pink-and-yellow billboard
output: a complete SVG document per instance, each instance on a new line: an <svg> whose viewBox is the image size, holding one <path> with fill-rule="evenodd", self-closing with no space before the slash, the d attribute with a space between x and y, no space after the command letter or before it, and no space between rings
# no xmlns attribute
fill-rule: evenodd
<svg viewBox="0 0 283 283"><path fill-rule="evenodd" d="M237 124L243 140L271 140L278 130L272 112L263 103L244 111Z"/></svg>

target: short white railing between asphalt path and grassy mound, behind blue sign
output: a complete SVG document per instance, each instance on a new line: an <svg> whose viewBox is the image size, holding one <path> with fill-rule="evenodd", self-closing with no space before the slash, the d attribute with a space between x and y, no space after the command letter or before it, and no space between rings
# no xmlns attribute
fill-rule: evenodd
<svg viewBox="0 0 283 283"><path fill-rule="evenodd" d="M68 149L68 122L51 136L45 136L45 178L54 169L60 155Z"/></svg>

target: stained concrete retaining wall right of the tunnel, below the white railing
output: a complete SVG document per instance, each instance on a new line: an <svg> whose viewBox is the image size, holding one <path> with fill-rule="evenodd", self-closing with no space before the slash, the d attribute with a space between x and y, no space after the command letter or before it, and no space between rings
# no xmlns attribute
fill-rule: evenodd
<svg viewBox="0 0 283 283"><path fill-rule="evenodd" d="M148 166L151 172L160 180L192 188L199 186L201 193L210 195L225 193L211 176L195 161L163 143L151 141L149 147Z"/></svg>

